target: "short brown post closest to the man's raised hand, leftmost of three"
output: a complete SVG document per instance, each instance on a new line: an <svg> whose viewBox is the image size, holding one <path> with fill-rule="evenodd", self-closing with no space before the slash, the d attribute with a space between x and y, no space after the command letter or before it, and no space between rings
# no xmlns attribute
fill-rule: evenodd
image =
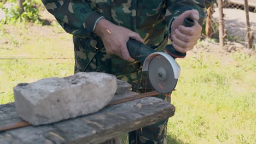
<svg viewBox="0 0 256 144"><path fill-rule="evenodd" d="M206 25L205 25L205 33L206 33L206 37L207 38L211 38L212 37L212 22L213 22L213 10L214 6L212 5L210 8L208 8L207 13L208 13L208 17L206 19Z"/></svg>

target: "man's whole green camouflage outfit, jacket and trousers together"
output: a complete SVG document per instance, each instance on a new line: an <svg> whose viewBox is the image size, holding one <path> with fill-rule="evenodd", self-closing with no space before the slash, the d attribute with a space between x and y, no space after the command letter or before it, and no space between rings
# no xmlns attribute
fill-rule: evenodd
<svg viewBox="0 0 256 144"><path fill-rule="evenodd" d="M83 71L97 49L100 52L86 71L114 74L118 79L132 84L133 91L149 92L147 73L142 73L138 62L126 62L118 56L108 55L101 39L93 33L96 22L103 16L115 25L137 32L145 44L157 51L164 51L170 35L171 22L184 11L199 11L202 25L207 8L215 0L42 0L45 8L67 33L73 34L75 68ZM159 98L170 101L165 95ZM167 120L129 133L129 143L166 143Z"/></svg>

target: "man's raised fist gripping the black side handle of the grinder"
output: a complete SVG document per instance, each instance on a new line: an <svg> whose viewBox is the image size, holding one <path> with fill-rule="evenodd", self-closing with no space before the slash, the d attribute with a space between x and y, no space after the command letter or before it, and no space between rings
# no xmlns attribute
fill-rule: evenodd
<svg viewBox="0 0 256 144"><path fill-rule="evenodd" d="M193 27L184 27L182 25L184 18L190 17L195 21ZM187 52L193 49L197 40L201 37L202 27L197 22L199 13L197 10L188 10L178 16L171 25L171 39L173 47L179 52Z"/></svg>

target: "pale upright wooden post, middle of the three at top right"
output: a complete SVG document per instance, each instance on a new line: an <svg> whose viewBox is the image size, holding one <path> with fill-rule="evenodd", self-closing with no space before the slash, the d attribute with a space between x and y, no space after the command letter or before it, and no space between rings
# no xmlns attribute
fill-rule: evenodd
<svg viewBox="0 0 256 144"><path fill-rule="evenodd" d="M224 46L224 20L223 20L223 2L218 0L219 7L219 46Z"/></svg>

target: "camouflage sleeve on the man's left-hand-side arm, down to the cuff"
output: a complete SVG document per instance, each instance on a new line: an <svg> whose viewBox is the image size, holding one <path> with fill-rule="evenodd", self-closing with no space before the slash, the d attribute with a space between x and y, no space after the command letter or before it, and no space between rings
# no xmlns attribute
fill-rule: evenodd
<svg viewBox="0 0 256 144"><path fill-rule="evenodd" d="M83 0L42 0L45 8L53 14L67 33L77 37L94 37L96 23L103 18Z"/></svg>

